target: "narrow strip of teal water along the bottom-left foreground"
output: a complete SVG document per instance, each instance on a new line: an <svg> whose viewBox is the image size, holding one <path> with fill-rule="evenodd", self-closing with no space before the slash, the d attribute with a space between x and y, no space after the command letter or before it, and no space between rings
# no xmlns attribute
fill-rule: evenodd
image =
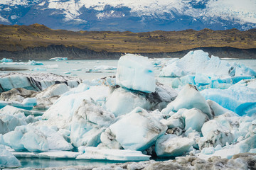
<svg viewBox="0 0 256 170"><path fill-rule="evenodd" d="M62 166L102 166L112 163L111 161L94 161L84 159L39 159L39 158L19 158L21 162L20 168L48 168L48 167L62 167Z"/></svg>

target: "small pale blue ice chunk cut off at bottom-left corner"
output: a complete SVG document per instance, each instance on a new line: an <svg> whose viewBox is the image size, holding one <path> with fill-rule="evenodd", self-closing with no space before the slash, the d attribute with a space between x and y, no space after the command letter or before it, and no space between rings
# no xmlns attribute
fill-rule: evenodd
<svg viewBox="0 0 256 170"><path fill-rule="evenodd" d="M14 157L11 152L5 149L4 145L0 145L0 169L17 168L21 163Z"/></svg>

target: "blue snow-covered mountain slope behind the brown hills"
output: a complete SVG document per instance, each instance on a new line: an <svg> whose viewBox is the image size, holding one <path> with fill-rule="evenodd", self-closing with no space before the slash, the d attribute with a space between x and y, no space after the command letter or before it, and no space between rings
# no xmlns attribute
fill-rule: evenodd
<svg viewBox="0 0 256 170"><path fill-rule="evenodd" d="M0 23L68 30L256 28L255 0L1 0Z"/></svg>

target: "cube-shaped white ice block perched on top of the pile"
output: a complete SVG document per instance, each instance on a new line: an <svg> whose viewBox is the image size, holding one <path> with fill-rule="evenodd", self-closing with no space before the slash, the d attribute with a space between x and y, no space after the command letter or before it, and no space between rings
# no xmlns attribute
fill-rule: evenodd
<svg viewBox="0 0 256 170"><path fill-rule="evenodd" d="M139 55L124 55L120 57L117 65L117 84L127 89L154 92L156 81L154 67L148 57Z"/></svg>

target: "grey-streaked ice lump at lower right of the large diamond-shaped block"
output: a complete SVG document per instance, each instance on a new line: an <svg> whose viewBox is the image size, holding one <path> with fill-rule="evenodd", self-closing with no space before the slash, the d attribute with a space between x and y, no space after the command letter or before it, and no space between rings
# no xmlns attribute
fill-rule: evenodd
<svg viewBox="0 0 256 170"><path fill-rule="evenodd" d="M156 141L156 154L159 157L178 157L188 152L194 141L187 137L176 135L162 135Z"/></svg>

